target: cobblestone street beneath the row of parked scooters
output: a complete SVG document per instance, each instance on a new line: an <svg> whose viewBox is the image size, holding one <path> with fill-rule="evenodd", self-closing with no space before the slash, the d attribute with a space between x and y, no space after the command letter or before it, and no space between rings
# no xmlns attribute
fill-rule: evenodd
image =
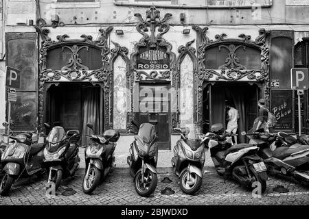
<svg viewBox="0 0 309 219"><path fill-rule="evenodd" d="M204 168L204 179L201 190L195 195L184 194L172 168L159 168L159 181L155 194L143 198L135 192L133 178L128 168L116 168L105 182L87 195L82 192L84 169L78 170L76 177L64 181L56 196L45 196L45 179L20 181L12 188L10 196L0 197L1 205L308 205L309 189L301 185L269 177L268 188L262 198L253 198L251 192L233 181L219 177L214 167ZM162 183L164 177L172 183ZM277 185L284 185L288 193L274 192ZM163 195L161 190L170 187L172 195ZM62 192L73 189L75 194L65 196Z"/></svg>

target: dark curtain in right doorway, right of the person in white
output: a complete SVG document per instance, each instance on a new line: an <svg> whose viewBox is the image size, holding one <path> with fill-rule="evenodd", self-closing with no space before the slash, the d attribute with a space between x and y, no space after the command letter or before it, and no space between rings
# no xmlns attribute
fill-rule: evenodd
<svg viewBox="0 0 309 219"><path fill-rule="evenodd" d="M246 142L246 136L242 136L242 131L247 131L246 129L246 103L245 103L245 92L240 88L225 88L226 99L231 101L238 110L239 120L238 120L238 143Z"/></svg>

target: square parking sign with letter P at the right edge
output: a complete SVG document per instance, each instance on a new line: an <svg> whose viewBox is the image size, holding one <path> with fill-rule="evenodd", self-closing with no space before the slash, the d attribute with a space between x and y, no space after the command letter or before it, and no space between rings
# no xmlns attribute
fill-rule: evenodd
<svg viewBox="0 0 309 219"><path fill-rule="evenodd" d="M291 68L290 86L292 90L308 89L309 88L308 68Z"/></svg>

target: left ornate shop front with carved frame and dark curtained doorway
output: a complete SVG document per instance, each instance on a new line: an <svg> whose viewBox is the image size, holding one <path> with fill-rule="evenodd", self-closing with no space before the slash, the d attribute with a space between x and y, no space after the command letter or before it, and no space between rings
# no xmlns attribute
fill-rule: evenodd
<svg viewBox="0 0 309 219"><path fill-rule="evenodd" d="M109 128L111 79L106 40L111 29L100 29L99 40L86 35L81 39L62 35L51 40L43 35L38 83L41 130L43 123L49 123L65 131L77 129L84 136L90 133L87 123L93 124L96 133ZM87 145L87 138L82 137L81 144Z"/></svg>

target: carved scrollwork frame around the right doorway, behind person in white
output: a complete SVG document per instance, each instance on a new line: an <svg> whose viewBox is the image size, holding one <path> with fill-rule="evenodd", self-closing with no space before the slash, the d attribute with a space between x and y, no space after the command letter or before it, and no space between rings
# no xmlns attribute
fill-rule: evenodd
<svg viewBox="0 0 309 219"><path fill-rule="evenodd" d="M227 38L226 34L217 34L215 40L209 40L206 36L208 27L201 28L193 25L192 28L197 32L199 44L197 46L198 53L198 77L196 77L195 86L197 96L197 121L202 124L203 118L203 82L204 81L239 81L246 79L249 81L260 81L264 83L264 99L266 105L269 105L269 49L266 45L266 36L268 31L265 29L259 30L259 36L253 41L251 36L240 34L238 39ZM205 54L207 49L218 47L228 50L228 57L225 64L222 64L218 69L208 69L205 66ZM258 49L260 51L261 67L259 69L247 69L240 64L236 56L237 49L246 50L247 47Z"/></svg>

